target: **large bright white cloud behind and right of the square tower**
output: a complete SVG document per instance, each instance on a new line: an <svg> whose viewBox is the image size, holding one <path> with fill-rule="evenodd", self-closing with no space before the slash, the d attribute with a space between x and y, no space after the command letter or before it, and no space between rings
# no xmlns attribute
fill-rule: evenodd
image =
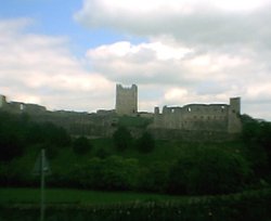
<svg viewBox="0 0 271 221"><path fill-rule="evenodd" d="M194 50L177 43L171 47L165 39L139 44L116 42L89 50L87 57L109 80L144 87L140 104L147 110L153 110L154 104L228 103L231 96L271 102L271 86L267 83L271 81L270 67L260 54ZM159 95L149 100L152 90ZM249 106L244 112L249 113ZM261 113L259 109L251 115Z"/></svg>

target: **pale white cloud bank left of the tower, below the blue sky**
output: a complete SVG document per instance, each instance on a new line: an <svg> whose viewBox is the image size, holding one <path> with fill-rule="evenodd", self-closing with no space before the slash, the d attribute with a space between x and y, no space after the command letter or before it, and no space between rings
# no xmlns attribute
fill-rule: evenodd
<svg viewBox="0 0 271 221"><path fill-rule="evenodd" d="M28 20L0 21L0 91L52 109L112 108L114 83L89 73L62 37L24 31Z"/></svg>

